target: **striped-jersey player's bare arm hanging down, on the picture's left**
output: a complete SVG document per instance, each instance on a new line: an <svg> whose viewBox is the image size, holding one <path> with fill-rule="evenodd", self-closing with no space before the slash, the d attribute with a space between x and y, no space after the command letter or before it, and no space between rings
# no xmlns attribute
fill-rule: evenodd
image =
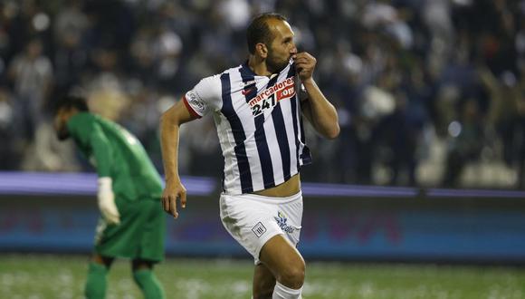
<svg viewBox="0 0 525 299"><path fill-rule="evenodd" d="M176 218L178 217L177 198L180 200L181 207L186 207L186 188L178 176L179 129L181 124L197 118L188 111L184 101L186 100L178 101L164 112L160 119L160 145L166 177L166 187L162 192L162 206L168 214Z"/></svg>

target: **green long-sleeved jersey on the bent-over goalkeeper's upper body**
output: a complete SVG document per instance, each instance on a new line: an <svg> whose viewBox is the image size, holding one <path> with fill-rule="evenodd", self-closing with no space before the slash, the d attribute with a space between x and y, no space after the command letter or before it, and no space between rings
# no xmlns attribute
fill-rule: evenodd
<svg viewBox="0 0 525 299"><path fill-rule="evenodd" d="M97 169L99 178L113 180L116 197L130 201L160 198L162 181L142 144L119 124L80 112L67 123L81 152Z"/></svg>

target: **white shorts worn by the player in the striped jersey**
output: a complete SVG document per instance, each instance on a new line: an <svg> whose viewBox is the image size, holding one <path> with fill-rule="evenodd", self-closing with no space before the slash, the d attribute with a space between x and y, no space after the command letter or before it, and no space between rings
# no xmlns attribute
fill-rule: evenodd
<svg viewBox="0 0 525 299"><path fill-rule="evenodd" d="M224 227L259 264L262 246L276 235L284 235L293 246L299 243L302 219L301 191L287 198L254 194L226 195L220 199Z"/></svg>

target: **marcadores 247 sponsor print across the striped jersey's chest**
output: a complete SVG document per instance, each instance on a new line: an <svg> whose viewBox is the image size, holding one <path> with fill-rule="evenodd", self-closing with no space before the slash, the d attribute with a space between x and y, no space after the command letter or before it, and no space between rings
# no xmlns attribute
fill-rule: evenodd
<svg viewBox="0 0 525 299"><path fill-rule="evenodd" d="M294 83L293 77L287 78L282 82L275 83L275 85L267 88L255 98L248 101L248 104L252 108L253 116L257 116L263 111L273 108L279 101L295 96Z"/></svg>

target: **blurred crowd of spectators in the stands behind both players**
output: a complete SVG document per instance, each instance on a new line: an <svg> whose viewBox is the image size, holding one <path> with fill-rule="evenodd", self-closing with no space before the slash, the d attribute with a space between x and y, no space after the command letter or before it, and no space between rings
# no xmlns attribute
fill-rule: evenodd
<svg viewBox="0 0 525 299"><path fill-rule="evenodd" d="M160 114L243 63L254 14L286 15L339 111L308 130L310 181L524 188L524 0L2 0L0 169L89 169L54 138L63 94L138 136L158 169ZM183 126L180 171L220 177L210 117Z"/></svg>

